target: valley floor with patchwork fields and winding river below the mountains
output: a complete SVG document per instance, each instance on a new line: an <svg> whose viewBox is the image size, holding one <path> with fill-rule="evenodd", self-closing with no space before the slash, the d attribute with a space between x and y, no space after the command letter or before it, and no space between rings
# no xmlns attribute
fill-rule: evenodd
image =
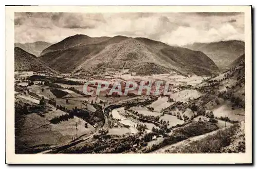
<svg viewBox="0 0 257 169"><path fill-rule="evenodd" d="M84 96L85 78L58 83L17 80L15 153L244 151L244 107L235 108L234 101L220 96L215 86L206 90L213 85L208 82L211 78L125 72L108 78L170 80L172 95Z"/></svg>

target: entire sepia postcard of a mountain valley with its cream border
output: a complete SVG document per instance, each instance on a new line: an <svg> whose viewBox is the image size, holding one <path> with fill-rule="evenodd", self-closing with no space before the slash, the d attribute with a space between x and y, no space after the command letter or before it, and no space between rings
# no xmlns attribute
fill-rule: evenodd
<svg viewBox="0 0 257 169"><path fill-rule="evenodd" d="M251 161L251 7L123 8L6 8L10 161Z"/></svg>

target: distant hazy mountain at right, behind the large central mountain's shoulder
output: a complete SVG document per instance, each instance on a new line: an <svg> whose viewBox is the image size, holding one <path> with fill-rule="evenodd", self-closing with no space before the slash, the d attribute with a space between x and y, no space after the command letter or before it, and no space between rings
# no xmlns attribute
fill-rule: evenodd
<svg viewBox="0 0 257 169"><path fill-rule="evenodd" d="M245 53L245 43L243 41L194 43L185 47L204 52L221 70L229 68L229 64Z"/></svg>

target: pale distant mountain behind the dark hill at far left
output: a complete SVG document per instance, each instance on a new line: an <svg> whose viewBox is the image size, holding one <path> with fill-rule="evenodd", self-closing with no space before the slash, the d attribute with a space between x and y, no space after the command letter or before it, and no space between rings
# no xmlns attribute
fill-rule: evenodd
<svg viewBox="0 0 257 169"><path fill-rule="evenodd" d="M25 43L25 44L15 43L14 47L19 47L19 48L35 55L36 57L39 57L40 53L50 45L51 44L48 42L37 41L37 42Z"/></svg>

